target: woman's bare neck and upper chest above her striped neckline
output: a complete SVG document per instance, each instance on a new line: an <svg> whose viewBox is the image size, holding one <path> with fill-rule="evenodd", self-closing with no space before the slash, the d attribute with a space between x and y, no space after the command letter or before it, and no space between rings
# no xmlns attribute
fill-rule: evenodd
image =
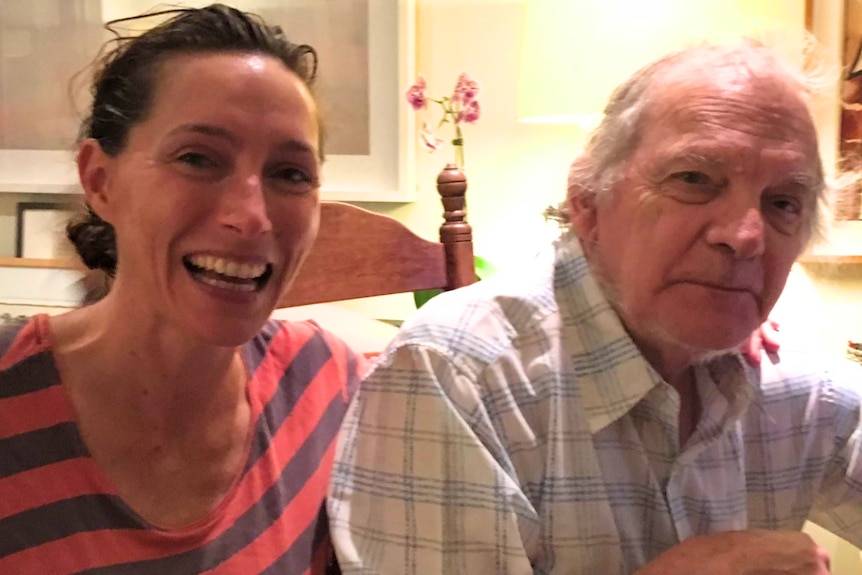
<svg viewBox="0 0 862 575"><path fill-rule="evenodd" d="M198 521L245 465L252 410L241 354L155 321L118 320L101 306L49 320L81 438L146 520L162 527Z"/></svg>

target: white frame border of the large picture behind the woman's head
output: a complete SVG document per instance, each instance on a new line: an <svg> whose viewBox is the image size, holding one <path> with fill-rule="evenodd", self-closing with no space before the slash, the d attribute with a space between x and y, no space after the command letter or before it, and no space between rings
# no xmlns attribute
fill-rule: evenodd
<svg viewBox="0 0 862 575"><path fill-rule="evenodd" d="M58 1L68 2L69 0ZM118 0L112 1L116 3ZM249 12L277 14L278 10L289 1L236 0L232 4ZM410 202L415 199L416 187L416 146L411 142L415 135L415 114L410 113L412 110L404 103L402 93L413 81L415 72L415 0L354 1L366 4L368 10L367 32L364 34L364 38L367 39L365 61L368 69L367 151L349 154L327 153L323 168L321 197L324 200L351 202ZM208 0L182 2L189 6L203 6L209 3ZM103 4L111 6L109 2L103 2ZM135 2L123 0L116 4L115 11L122 8L124 10L122 14L107 14L110 10L103 7L103 18L128 15L131 4ZM328 3L298 2L297 4L305 11L303 14L309 12L310 15L307 17L313 19L316 17L313 11L322 9ZM149 1L141 2L140 12L146 11L151 6L152 3ZM138 8L138 6L135 7ZM274 19L265 17L267 22L280 25L277 17ZM88 23L88 26L89 38L92 39L93 23ZM0 28L0 33L4 36L2 49L6 50L8 46L16 45L15 32L17 31ZM25 41L23 36L20 38L22 38L20 42ZM299 41L305 40L299 38ZM32 41L31 43L39 44ZM83 45L83 43L80 44ZM337 46L335 48L328 54L339 54ZM93 54L95 50L90 53L90 57ZM10 59L7 58L7 60ZM2 61L3 58L0 58L0 62ZM323 65L324 63L321 62L321 66ZM79 68L80 66L78 68L73 66L72 69L64 69L63 73L66 77L71 77ZM8 74L6 77L8 78ZM9 82L12 83L12 81ZM51 86L51 89L55 90L56 82ZM0 107L3 106L4 97L2 88L0 86ZM40 118L45 116L26 110L7 115L28 119L34 116ZM0 118L0 128L2 127L3 121ZM329 132L337 129L337 126L327 126ZM62 133L68 135L70 140L68 146L56 146L55 149L43 149L41 146L0 148L0 193L79 193L71 142L74 138L74 129L67 126ZM3 144L3 139L0 139L0 146ZM67 149L62 149L64 147Z"/></svg>

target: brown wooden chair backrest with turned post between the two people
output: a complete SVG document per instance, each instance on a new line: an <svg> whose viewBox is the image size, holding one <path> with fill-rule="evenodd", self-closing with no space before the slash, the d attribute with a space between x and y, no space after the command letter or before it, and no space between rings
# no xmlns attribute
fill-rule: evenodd
<svg viewBox="0 0 862 575"><path fill-rule="evenodd" d="M467 182L455 166L437 179L444 207L440 241L420 238L404 224L350 204L323 202L320 232L279 308L476 281L473 239L466 221Z"/></svg>

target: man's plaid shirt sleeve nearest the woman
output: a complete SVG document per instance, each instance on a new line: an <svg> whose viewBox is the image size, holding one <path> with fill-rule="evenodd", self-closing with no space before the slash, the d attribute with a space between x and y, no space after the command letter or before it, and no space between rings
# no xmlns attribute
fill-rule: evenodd
<svg viewBox="0 0 862 575"><path fill-rule="evenodd" d="M327 503L343 573L532 573L522 536L535 512L486 447L493 426L472 379L406 345L363 381Z"/></svg>

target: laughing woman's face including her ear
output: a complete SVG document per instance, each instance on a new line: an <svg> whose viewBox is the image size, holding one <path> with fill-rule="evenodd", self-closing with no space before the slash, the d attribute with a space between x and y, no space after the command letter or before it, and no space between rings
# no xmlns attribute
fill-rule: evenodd
<svg viewBox="0 0 862 575"><path fill-rule="evenodd" d="M317 234L314 102L278 60L192 54L159 68L116 157L87 141L87 199L116 229L115 297L237 345L266 320Z"/></svg>

